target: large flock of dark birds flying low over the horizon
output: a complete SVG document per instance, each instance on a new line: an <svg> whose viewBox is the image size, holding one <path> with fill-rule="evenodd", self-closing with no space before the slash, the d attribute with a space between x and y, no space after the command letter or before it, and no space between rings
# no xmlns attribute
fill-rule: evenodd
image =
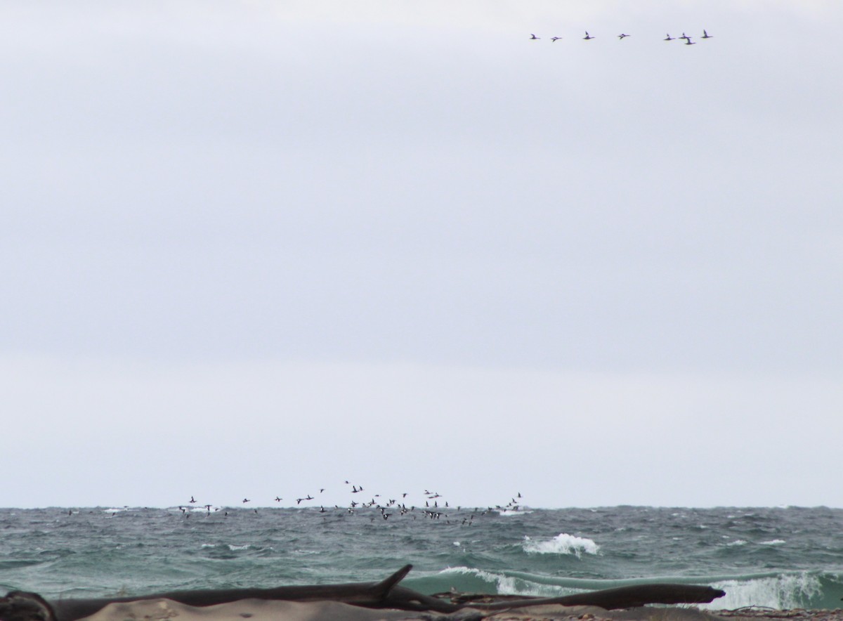
<svg viewBox="0 0 843 621"><path fill-rule="evenodd" d="M347 507L341 507L339 505L335 505L333 509L326 509L325 506L319 506L319 513L328 513L328 512L336 512L341 511L342 513L347 514L354 514L360 510L375 510L379 511L380 517L384 520L388 520L389 517L392 517L396 513L399 516L406 516L410 514L414 514L413 518L415 519L416 515L416 506L406 506L406 498L408 493L402 492L400 495L396 495L395 498L382 498L380 494L369 494L362 485L352 484L349 481L345 481L344 484L351 485L351 490L348 490L349 494L354 494L359 496L354 496L352 500L349 502ZM325 488L319 488L319 494L325 492ZM370 500L357 500L364 499L369 497ZM400 496L400 498L399 498ZM277 503L280 503L284 499L281 496L276 496L274 499ZM301 496L300 498L296 498L296 506L301 506L303 502L315 501L316 495L306 494ZM246 504L251 502L250 498L244 498L242 504ZM447 500L443 498L443 495L439 494L436 491L424 490L424 506L418 507L418 513L420 513L423 517L430 518L432 520L438 520L441 517L444 517L446 522L450 523L448 518L450 517L448 511L462 511L462 506L451 506ZM481 509L480 507L475 507L474 511L481 513L481 515L486 515L491 511L521 511L522 510L522 495L521 492L518 492L516 495L512 497L512 499L507 502L506 505L496 505L496 506L488 506L485 509ZM186 503L185 506L179 506L180 511L185 517L191 517L191 507L204 507L208 514L213 511L220 511L223 510L225 515L228 515L228 511L224 511L223 507L214 507L213 505L205 505L201 504L199 501L196 501L191 495L191 500ZM257 513L257 509L254 509L255 513ZM459 519L459 518L458 518ZM472 520L474 520L474 514L472 513L470 517L461 516L462 524L470 526Z"/></svg>

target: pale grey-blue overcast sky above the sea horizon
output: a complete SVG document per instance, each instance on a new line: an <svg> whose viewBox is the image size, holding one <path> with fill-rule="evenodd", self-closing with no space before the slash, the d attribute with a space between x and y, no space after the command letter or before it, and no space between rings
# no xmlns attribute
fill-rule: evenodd
<svg viewBox="0 0 843 621"><path fill-rule="evenodd" d="M3 3L0 506L843 506L841 23Z"/></svg>

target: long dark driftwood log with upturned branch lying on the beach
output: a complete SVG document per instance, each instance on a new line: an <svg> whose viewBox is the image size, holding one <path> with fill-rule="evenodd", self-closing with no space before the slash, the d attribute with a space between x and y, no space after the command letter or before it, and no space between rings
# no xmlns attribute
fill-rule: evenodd
<svg viewBox="0 0 843 621"><path fill-rule="evenodd" d="M187 606L213 606L244 599L285 600L290 602L344 602L365 608L397 608L399 610L454 613L463 608L480 611L523 608L540 604L561 606L597 606L607 610L635 608L650 603L707 603L724 592L711 586L681 584L644 584L621 586L616 589L577 593L564 597L529 597L507 599L502 602L448 602L398 586L410 573L412 565L405 565L380 582L352 582L339 585L277 586L271 589L206 589L152 593L136 597L100 597L93 599L56 599L46 602L35 593L10 592L0 598L0 618L3 621L76 621L99 612L110 603L138 600L169 599Z"/></svg>

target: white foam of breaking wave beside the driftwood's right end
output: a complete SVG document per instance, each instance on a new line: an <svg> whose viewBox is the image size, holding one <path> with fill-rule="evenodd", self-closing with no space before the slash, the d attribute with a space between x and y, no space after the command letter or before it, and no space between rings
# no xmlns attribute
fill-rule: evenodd
<svg viewBox="0 0 843 621"><path fill-rule="evenodd" d="M701 608L713 610L734 610L744 606L760 606L786 610L802 608L810 597L816 597L822 590L819 578L808 572L774 575L768 578L727 580L711 586L726 592L710 604Z"/></svg>

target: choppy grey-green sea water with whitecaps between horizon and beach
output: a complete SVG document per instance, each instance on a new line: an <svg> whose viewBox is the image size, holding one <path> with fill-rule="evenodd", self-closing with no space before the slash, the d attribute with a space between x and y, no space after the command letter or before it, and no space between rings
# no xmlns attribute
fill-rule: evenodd
<svg viewBox="0 0 843 621"><path fill-rule="evenodd" d="M388 511L0 509L0 589L101 597L377 581L411 563L402 584L426 593L661 581L727 592L708 608L840 608L843 597L840 509Z"/></svg>

